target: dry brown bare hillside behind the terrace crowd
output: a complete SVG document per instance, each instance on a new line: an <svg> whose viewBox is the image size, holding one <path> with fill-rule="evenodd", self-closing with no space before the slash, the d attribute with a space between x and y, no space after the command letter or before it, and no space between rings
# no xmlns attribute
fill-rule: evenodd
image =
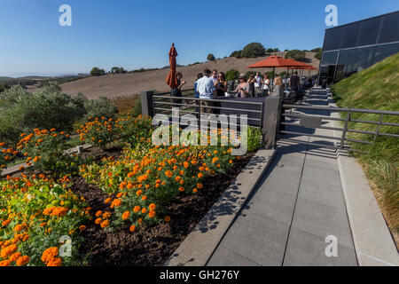
<svg viewBox="0 0 399 284"><path fill-rule="evenodd" d="M306 57L308 63L318 68L319 61L314 58L315 52L307 52ZM284 56L285 52L277 52L277 55ZM181 71L184 74L184 80L187 81L187 85L184 89L192 88L197 74L202 72L204 68L216 69L218 71L226 72L230 69L237 69L239 72L246 73L250 69L246 66L257 62L267 57L260 57L256 59L236 59L226 58L215 61L207 61L204 63L177 67L177 71ZM179 58L177 57L177 64ZM270 68L260 68L260 72L270 71ZM286 69L276 69L276 72L280 73ZM312 71L312 75L316 74L317 71ZM78 80L71 83L64 83L61 85L62 90L68 94L75 95L78 92L82 92L88 98L97 98L99 95L106 96L110 99L116 97L129 96L140 93L140 91L146 90L157 90L157 91L169 91L168 85L165 83L166 76L168 75L168 68L146 71L143 73L129 73L119 75L104 75L100 77L89 77L82 80ZM305 75L309 75L309 71L305 71Z"/></svg>

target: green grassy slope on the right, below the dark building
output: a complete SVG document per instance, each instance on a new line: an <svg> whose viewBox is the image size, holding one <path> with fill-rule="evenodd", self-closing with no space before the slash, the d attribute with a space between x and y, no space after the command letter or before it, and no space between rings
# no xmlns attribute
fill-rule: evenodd
<svg viewBox="0 0 399 284"><path fill-rule="evenodd" d="M399 110L399 53L351 75L332 87L339 106L379 110ZM379 114L360 114L353 119L378 121ZM383 122L399 123L398 115L385 115ZM349 128L375 131L376 125L351 123ZM399 134L399 127L382 126L385 133ZM372 141L372 135L351 133L352 137ZM371 181L379 205L387 219L396 245L399 238L399 147L398 138L379 137L374 145L359 146L357 154Z"/></svg>

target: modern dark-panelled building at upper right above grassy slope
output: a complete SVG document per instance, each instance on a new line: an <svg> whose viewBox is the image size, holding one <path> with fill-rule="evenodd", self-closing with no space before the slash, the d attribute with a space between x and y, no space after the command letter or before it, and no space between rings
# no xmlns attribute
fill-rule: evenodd
<svg viewBox="0 0 399 284"><path fill-rule="evenodd" d="M318 83L337 83L399 52L399 11L325 30Z"/></svg>

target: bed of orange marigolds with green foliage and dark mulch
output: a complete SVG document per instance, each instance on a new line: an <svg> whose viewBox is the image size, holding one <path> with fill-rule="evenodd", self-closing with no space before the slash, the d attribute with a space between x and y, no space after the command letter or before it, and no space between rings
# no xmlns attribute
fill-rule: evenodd
<svg viewBox="0 0 399 284"><path fill-rule="evenodd" d="M0 265L162 265L253 153L153 146L152 133L151 118L125 114L1 143L0 167L29 167L0 179ZM67 153L73 137L101 154Z"/></svg>

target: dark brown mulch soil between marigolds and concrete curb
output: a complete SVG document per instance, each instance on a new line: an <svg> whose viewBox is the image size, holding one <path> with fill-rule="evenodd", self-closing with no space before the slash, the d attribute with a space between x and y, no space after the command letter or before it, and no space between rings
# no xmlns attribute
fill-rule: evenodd
<svg viewBox="0 0 399 284"><path fill-rule="evenodd" d="M113 232L101 229L91 221L82 233L82 255L89 255L91 266L162 266L184 241L202 217L231 185L254 154L246 154L234 162L227 175L207 178L203 189L189 196L177 196L168 207L169 223L142 226L135 233L129 227ZM97 186L88 185L82 177L73 178L72 190L89 202L93 214L108 209L104 203L107 195Z"/></svg>

